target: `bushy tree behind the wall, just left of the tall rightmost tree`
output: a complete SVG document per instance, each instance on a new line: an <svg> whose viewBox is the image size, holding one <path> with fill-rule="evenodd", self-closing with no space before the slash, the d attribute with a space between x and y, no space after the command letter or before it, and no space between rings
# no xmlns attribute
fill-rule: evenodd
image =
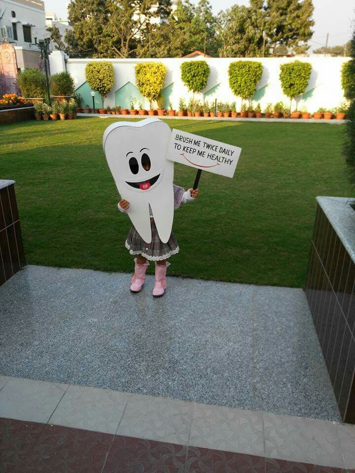
<svg viewBox="0 0 355 473"><path fill-rule="evenodd" d="M268 55L263 38L263 15L260 9L233 5L219 13L220 57L258 57Z"/></svg>

